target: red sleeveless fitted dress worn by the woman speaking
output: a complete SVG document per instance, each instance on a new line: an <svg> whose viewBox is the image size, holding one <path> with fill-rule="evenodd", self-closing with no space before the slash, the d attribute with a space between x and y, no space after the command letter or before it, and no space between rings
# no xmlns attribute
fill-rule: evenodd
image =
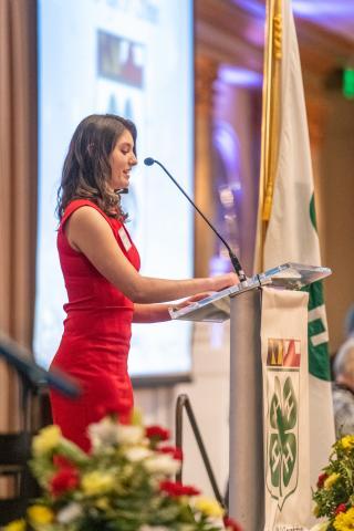
<svg viewBox="0 0 354 531"><path fill-rule="evenodd" d="M127 260L139 269L138 252L124 225L106 216L88 200L73 200L65 209L58 232L58 250L69 302L67 316L52 367L72 375L83 393L66 398L51 392L53 421L64 437L90 450L86 428L110 413L128 421L133 389L127 373L134 303L106 280L81 252L69 244L65 221L80 207L97 210L110 225ZM50 289L50 287L48 287Z"/></svg>

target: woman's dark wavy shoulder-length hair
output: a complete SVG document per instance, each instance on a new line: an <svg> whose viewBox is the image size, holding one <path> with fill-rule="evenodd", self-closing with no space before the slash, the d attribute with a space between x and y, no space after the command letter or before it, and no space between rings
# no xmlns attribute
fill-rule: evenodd
<svg viewBox="0 0 354 531"><path fill-rule="evenodd" d="M62 218L73 199L90 199L107 216L124 218L121 198L110 188L110 156L124 131L129 131L136 155L136 127L114 114L92 114L76 127L64 160L56 215Z"/></svg>

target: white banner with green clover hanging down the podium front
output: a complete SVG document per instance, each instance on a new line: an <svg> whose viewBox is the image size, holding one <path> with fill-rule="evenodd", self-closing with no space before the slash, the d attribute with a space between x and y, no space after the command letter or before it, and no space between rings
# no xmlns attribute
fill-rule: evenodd
<svg viewBox="0 0 354 531"><path fill-rule="evenodd" d="M301 291L262 290L264 531L308 529L308 302Z"/></svg>

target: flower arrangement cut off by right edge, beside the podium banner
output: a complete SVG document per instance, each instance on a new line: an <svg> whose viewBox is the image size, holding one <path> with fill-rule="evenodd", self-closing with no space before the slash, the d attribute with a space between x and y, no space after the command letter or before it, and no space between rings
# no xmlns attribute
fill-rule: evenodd
<svg viewBox="0 0 354 531"><path fill-rule="evenodd" d="M354 530L354 435L346 435L332 447L330 464L319 476L312 496L317 518L326 521L316 531Z"/></svg>

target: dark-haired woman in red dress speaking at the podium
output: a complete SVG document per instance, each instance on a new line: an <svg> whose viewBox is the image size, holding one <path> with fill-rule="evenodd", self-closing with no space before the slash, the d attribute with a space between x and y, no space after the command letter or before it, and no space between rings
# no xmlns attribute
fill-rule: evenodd
<svg viewBox="0 0 354 531"><path fill-rule="evenodd" d="M139 274L119 197L136 164L135 125L110 114L88 116L74 132L58 192L58 250L67 303L52 367L75 377L83 392L75 400L51 392L51 406L63 435L86 451L91 423L110 413L129 420L132 322L167 321L166 301L191 298L185 305L198 293L238 282L235 273L187 280Z"/></svg>

